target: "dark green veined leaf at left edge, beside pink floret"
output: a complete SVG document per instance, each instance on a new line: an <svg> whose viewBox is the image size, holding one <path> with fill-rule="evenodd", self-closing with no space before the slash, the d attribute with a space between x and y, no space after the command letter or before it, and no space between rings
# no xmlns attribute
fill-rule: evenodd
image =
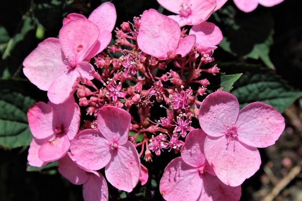
<svg viewBox="0 0 302 201"><path fill-rule="evenodd" d="M32 139L27 111L36 102L27 92L30 82L0 79L0 147L28 146Z"/></svg>

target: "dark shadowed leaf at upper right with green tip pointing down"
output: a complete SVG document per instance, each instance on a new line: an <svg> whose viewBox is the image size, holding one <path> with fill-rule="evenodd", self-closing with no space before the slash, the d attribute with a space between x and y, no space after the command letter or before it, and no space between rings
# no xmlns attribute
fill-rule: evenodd
<svg viewBox="0 0 302 201"><path fill-rule="evenodd" d="M260 58L265 65L274 69L269 58L274 20L268 10L257 9L243 13L227 6L218 10L218 13L214 18L224 28L223 40L219 46L234 56Z"/></svg>

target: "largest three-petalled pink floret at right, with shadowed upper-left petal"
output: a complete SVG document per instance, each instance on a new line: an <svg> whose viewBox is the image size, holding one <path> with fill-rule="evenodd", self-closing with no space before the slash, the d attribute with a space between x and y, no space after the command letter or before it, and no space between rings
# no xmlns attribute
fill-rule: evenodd
<svg viewBox="0 0 302 201"><path fill-rule="evenodd" d="M260 167L256 147L273 145L284 130L282 115L260 102L239 112L237 98L228 92L208 95L200 106L199 123L208 135L204 153L217 177L225 184L237 186Z"/></svg>

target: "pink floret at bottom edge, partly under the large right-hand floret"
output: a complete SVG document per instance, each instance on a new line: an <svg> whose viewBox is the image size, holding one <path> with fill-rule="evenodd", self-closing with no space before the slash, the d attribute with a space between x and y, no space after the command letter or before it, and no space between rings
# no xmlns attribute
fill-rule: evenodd
<svg viewBox="0 0 302 201"><path fill-rule="evenodd" d="M190 132L181 150L165 168L160 191L167 200L239 200L241 187L222 183L206 161L203 145L206 134L201 129Z"/></svg>

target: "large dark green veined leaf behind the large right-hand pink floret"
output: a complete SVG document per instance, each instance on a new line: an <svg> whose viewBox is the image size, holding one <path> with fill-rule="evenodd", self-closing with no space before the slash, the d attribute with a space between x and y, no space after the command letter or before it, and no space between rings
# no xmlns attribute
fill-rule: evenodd
<svg viewBox="0 0 302 201"><path fill-rule="evenodd" d="M243 73L234 83L231 91L238 98L241 108L259 101L283 113L298 97L302 96L301 91L293 90L280 76L267 68L223 63L219 67L222 72Z"/></svg>

